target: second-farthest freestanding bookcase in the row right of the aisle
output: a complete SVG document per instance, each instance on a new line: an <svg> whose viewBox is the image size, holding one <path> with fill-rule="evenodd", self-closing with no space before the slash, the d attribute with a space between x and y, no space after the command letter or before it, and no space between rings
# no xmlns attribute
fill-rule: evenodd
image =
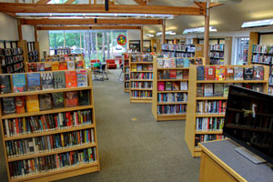
<svg viewBox="0 0 273 182"><path fill-rule="evenodd" d="M130 102L152 103L153 56L130 56Z"/></svg>

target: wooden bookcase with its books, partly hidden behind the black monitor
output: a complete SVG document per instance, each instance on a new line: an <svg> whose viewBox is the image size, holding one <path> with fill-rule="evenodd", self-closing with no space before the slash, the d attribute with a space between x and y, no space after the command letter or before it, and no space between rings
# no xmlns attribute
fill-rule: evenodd
<svg viewBox="0 0 273 182"><path fill-rule="evenodd" d="M268 93L268 66L189 66L185 139L193 157L199 142L222 139L228 86Z"/></svg>

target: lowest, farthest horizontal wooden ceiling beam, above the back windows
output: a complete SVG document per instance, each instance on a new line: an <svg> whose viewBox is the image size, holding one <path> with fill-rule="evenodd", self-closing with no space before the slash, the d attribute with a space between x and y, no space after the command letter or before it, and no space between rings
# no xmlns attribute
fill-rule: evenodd
<svg viewBox="0 0 273 182"><path fill-rule="evenodd" d="M141 29L141 26L121 26L121 25L109 25L109 26L37 26L37 30L129 30L129 29Z"/></svg>

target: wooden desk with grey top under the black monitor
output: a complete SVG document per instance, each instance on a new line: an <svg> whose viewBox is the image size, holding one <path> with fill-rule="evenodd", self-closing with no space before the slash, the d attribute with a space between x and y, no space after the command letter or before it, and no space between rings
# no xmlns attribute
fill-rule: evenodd
<svg viewBox="0 0 273 182"><path fill-rule="evenodd" d="M199 182L272 182L273 171L266 164L255 165L238 154L230 139L199 144Z"/></svg>

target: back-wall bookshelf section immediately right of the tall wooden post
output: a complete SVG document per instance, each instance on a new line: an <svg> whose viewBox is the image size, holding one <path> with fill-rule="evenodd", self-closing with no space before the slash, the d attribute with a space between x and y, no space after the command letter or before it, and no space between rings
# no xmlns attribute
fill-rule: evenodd
<svg viewBox="0 0 273 182"><path fill-rule="evenodd" d="M209 45L210 65L224 65L225 44Z"/></svg>

